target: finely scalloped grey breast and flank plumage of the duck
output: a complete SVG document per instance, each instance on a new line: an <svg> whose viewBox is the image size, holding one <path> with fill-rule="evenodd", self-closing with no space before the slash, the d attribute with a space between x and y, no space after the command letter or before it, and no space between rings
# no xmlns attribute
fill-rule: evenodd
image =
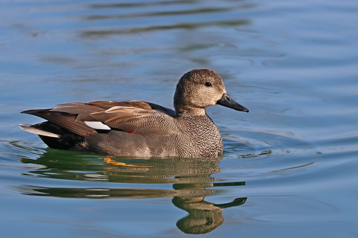
<svg viewBox="0 0 358 238"><path fill-rule="evenodd" d="M156 129L163 133L140 135L111 130L93 134L70 150L129 157L216 157L223 152L221 135L207 115L175 119L170 124L176 131L173 134L165 134L158 121Z"/></svg>

